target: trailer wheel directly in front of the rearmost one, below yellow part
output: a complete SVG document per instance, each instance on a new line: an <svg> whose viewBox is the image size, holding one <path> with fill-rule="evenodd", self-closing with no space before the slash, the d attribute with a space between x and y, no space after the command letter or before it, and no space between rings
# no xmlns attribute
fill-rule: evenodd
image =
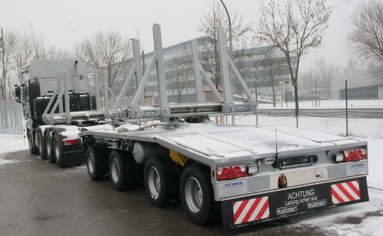
<svg viewBox="0 0 383 236"><path fill-rule="evenodd" d="M152 156L145 164L145 189L152 205L161 207L179 199L177 171L170 156Z"/></svg>

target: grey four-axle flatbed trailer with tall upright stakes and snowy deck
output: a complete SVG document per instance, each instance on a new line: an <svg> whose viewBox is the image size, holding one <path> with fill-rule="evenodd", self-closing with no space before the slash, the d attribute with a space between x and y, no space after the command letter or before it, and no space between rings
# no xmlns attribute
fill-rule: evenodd
<svg viewBox="0 0 383 236"><path fill-rule="evenodd" d="M209 115L254 114L257 110L252 94L227 58L223 28L218 29L218 42L225 93L215 103L203 103L197 87L197 103L167 102L159 25L153 26L153 33L151 64L139 77L140 63L136 63L121 93L126 93L134 74L139 77L131 106L117 110L117 100L110 124L81 128L79 137L87 150L92 180L109 173L116 190L143 182L154 206L180 199L193 223L221 219L224 228L369 200L367 142L285 125L218 125L210 120ZM201 85L199 75L207 76L199 66L195 45L191 46L195 83ZM137 47L133 50L137 62ZM139 100L154 65L160 104L142 106ZM231 100L229 67L248 100Z"/></svg>

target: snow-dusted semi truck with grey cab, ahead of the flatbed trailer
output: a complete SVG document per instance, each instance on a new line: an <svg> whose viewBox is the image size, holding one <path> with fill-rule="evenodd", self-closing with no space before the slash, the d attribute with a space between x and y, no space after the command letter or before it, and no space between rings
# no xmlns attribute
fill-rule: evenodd
<svg viewBox="0 0 383 236"><path fill-rule="evenodd" d="M95 96L89 93L84 62L31 61L23 67L23 76L23 83L15 86L15 94L16 101L22 103L31 154L40 154L41 159L59 167L83 163L80 138L68 136L67 132L80 132L80 127L104 119L103 111L94 111Z"/></svg>

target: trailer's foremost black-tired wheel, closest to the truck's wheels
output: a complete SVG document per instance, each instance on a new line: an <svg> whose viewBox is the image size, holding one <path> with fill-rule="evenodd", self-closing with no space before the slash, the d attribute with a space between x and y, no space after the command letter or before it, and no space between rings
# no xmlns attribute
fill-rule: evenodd
<svg viewBox="0 0 383 236"><path fill-rule="evenodd" d="M86 166L91 180L99 180L108 173L108 153L104 147L91 145L86 152Z"/></svg>

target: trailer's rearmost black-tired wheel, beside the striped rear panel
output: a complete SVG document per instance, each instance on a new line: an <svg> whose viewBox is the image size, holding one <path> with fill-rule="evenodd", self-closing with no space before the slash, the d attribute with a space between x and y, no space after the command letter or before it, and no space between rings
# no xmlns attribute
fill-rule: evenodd
<svg viewBox="0 0 383 236"><path fill-rule="evenodd" d="M220 214L220 203L214 201L210 170L201 165L187 166L181 175L180 195L187 218L196 225L212 223Z"/></svg>

